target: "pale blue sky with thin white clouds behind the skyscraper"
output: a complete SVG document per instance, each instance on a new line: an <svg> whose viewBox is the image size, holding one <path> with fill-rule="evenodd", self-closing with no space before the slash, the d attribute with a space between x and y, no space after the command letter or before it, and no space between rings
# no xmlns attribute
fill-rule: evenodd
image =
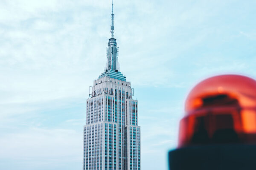
<svg viewBox="0 0 256 170"><path fill-rule="evenodd" d="M114 0L142 170L167 170L189 91L256 79L256 1ZM0 0L0 169L81 170L89 86L105 68L111 0Z"/></svg>

